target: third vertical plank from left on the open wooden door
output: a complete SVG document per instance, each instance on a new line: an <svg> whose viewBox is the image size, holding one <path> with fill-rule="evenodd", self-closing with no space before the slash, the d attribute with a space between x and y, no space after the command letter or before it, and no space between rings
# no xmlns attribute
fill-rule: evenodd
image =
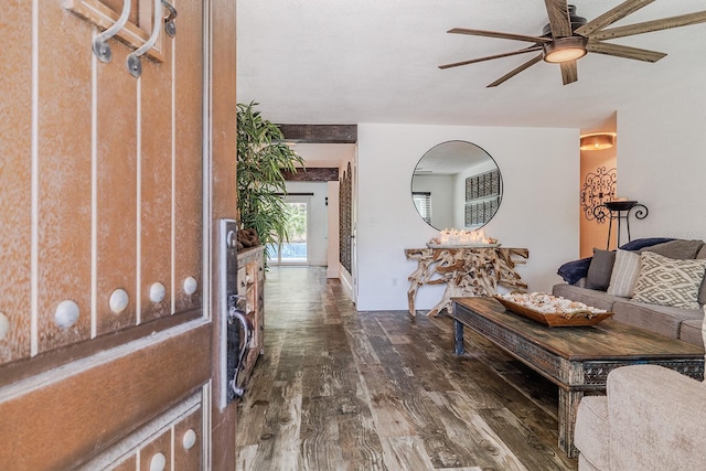
<svg viewBox="0 0 706 471"><path fill-rule="evenodd" d="M137 83L125 76L130 50L116 43L113 61L96 64L96 318L101 335L135 325L137 311ZM120 175L116 179L115 175ZM120 312L109 309L116 289L128 295Z"/></svg>

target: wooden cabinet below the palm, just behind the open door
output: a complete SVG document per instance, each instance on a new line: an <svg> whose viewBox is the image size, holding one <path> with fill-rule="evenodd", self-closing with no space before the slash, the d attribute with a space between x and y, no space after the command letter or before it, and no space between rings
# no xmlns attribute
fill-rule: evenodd
<svg viewBox="0 0 706 471"><path fill-rule="evenodd" d="M254 247L238 254L238 295L243 310L253 328L253 339L245 357L243 381L253 372L257 357L265 352L265 248Z"/></svg>

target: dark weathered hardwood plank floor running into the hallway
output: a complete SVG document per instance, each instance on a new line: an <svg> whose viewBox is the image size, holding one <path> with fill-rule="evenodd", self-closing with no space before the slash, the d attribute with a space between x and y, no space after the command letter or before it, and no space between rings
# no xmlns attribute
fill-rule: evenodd
<svg viewBox="0 0 706 471"><path fill-rule="evenodd" d="M576 470L557 390L448 317L356 312L323 268L270 268L239 470Z"/></svg>

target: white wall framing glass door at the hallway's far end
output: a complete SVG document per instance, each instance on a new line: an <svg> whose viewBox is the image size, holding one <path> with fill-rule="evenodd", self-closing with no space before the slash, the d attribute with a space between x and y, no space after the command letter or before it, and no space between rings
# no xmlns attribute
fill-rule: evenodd
<svg viewBox="0 0 706 471"><path fill-rule="evenodd" d="M327 182L287 182L287 193L313 193L309 205L309 231L307 234L309 265L327 266L329 251L329 215L325 199Z"/></svg>

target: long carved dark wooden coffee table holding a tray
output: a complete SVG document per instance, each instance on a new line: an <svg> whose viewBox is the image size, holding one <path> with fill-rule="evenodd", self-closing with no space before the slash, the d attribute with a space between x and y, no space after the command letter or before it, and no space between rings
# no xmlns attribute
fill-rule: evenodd
<svg viewBox="0 0 706 471"><path fill-rule="evenodd" d="M591 327L548 328L510 311L493 298L454 298L456 354L463 354L463 328L491 340L559 387L559 449L571 458L576 410L584 395L606 394L612 370L655 364L704 378L704 350L613 320Z"/></svg>

